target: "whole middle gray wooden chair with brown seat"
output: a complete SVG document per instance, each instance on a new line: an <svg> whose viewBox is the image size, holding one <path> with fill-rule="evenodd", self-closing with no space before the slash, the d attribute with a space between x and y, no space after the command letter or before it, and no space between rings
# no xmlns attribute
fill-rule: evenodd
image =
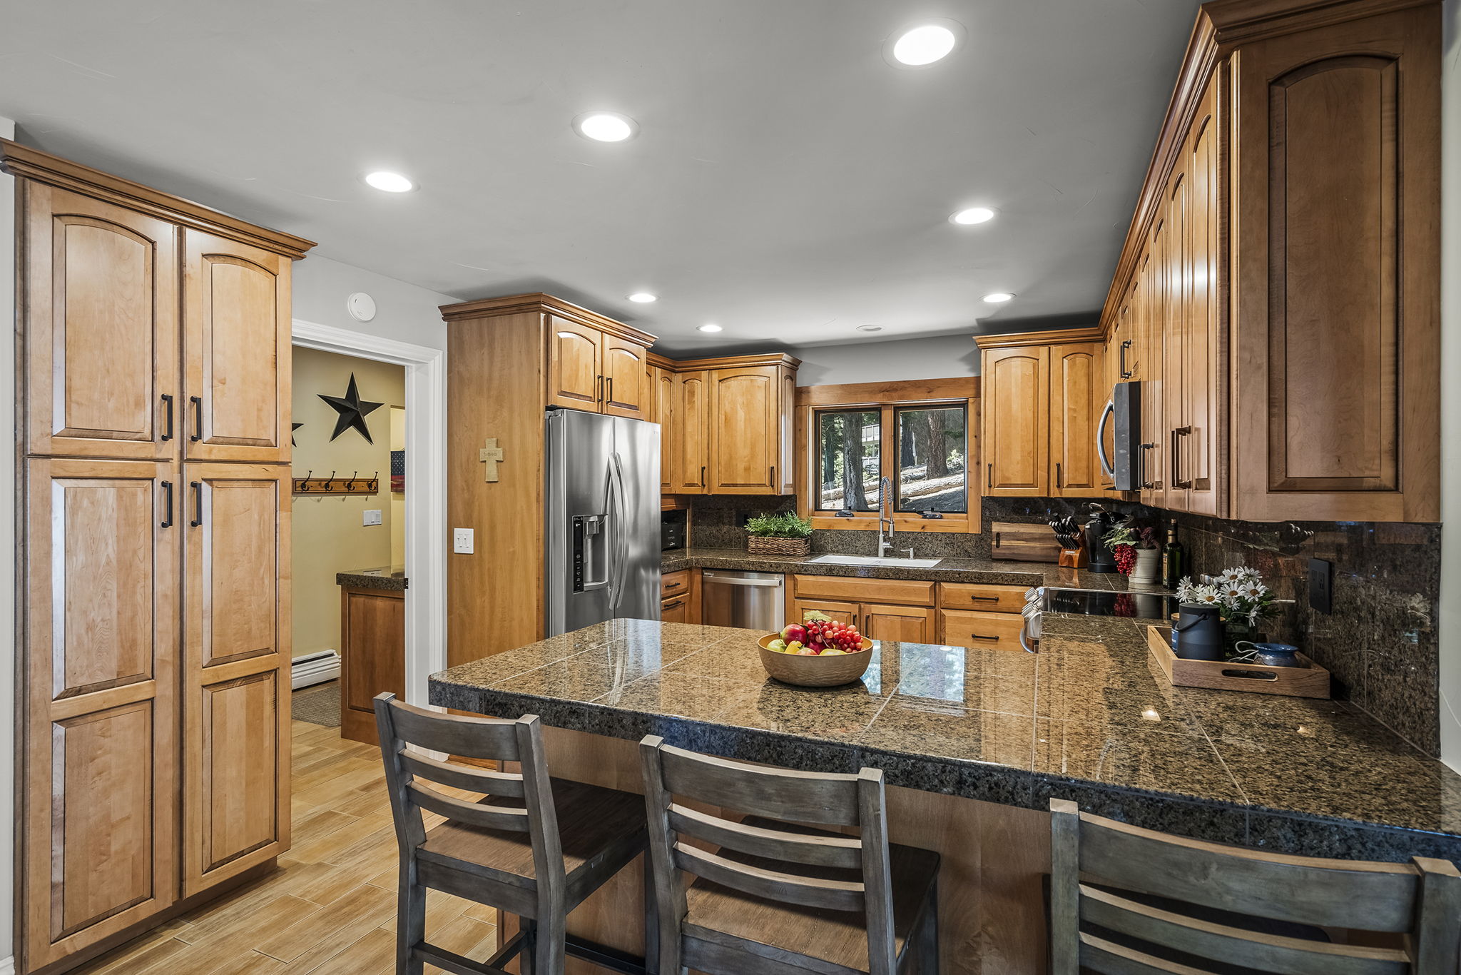
<svg viewBox="0 0 1461 975"><path fill-rule="evenodd" d="M653 735L640 756L663 975L938 972L938 854L888 843L880 770L768 769Z"/></svg>

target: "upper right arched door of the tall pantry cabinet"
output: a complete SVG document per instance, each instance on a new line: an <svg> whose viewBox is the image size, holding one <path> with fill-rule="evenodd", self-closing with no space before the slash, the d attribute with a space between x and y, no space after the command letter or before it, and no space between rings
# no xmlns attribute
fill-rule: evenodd
<svg viewBox="0 0 1461 975"><path fill-rule="evenodd" d="M285 462L289 259L202 231L183 234L183 456Z"/></svg>

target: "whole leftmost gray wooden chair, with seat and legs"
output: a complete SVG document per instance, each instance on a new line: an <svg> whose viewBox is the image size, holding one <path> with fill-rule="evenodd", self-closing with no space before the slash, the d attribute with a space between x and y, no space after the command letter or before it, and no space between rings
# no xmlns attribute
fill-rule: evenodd
<svg viewBox="0 0 1461 975"><path fill-rule="evenodd" d="M580 782L551 779L536 715L517 721L424 710L386 693L375 697L375 728L386 762L390 811L400 845L396 974L424 965L453 975L503 975L519 957L522 975L560 975L564 956L630 975L655 971L655 914L646 911L649 959L565 934L570 911L646 848L644 801ZM438 762L418 748L520 763L520 773ZM485 794L470 803L431 784ZM446 817L425 829L422 810ZM644 867L646 899L653 898ZM485 965L425 940L427 889L501 908L522 928Z"/></svg>

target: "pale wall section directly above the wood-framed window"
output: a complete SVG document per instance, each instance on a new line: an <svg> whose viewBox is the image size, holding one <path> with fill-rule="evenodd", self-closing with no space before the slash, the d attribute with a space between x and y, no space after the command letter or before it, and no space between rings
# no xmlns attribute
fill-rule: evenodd
<svg viewBox="0 0 1461 975"><path fill-rule="evenodd" d="M798 386L979 376L979 348L974 345L973 329L960 335L808 345L786 351L802 360L802 367L796 371Z"/></svg>

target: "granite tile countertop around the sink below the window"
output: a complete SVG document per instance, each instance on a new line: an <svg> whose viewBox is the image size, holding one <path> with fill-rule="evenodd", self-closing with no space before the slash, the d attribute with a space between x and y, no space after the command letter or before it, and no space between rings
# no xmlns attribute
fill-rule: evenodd
<svg viewBox="0 0 1461 975"><path fill-rule="evenodd" d="M739 569L806 576L852 576L859 579L919 579L931 582L985 582L1011 586L1071 586L1077 589L1125 589L1126 577L1061 569L1053 563L993 561L989 558L942 558L931 569L900 566L837 566L814 563L814 555L752 555L744 548L675 548L663 553L662 572L679 569Z"/></svg>

